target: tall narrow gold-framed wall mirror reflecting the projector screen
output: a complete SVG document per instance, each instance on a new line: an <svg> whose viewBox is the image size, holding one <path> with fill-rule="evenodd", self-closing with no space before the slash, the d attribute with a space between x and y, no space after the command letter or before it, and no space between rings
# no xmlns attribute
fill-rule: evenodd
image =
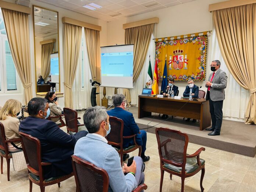
<svg viewBox="0 0 256 192"><path fill-rule="evenodd" d="M36 93L60 92L58 12L33 5Z"/></svg>

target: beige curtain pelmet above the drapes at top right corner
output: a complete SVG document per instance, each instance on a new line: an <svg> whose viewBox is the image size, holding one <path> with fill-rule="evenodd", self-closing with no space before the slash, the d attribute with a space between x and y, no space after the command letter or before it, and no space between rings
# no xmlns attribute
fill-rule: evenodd
<svg viewBox="0 0 256 192"><path fill-rule="evenodd" d="M216 11L225 8L237 7L256 3L255 0L229 0L220 3L209 4L209 11Z"/></svg>

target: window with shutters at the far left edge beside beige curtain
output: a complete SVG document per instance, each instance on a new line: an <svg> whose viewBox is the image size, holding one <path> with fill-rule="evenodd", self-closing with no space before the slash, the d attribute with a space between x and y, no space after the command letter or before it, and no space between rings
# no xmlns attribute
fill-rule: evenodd
<svg viewBox="0 0 256 192"><path fill-rule="evenodd" d="M0 9L0 93L18 92L18 79Z"/></svg>

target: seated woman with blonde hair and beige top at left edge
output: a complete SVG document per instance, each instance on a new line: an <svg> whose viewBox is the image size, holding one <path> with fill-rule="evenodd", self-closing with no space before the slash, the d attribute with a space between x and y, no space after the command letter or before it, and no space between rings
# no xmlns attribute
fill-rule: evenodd
<svg viewBox="0 0 256 192"><path fill-rule="evenodd" d="M21 102L8 99L0 110L0 122L4 125L6 139L19 139L19 120L16 118L21 111ZM22 149L21 142L8 143L9 151Z"/></svg>

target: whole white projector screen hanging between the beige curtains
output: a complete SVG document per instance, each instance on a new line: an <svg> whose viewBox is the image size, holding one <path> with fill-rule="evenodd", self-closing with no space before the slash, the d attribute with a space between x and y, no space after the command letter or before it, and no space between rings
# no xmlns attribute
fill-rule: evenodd
<svg viewBox="0 0 256 192"><path fill-rule="evenodd" d="M134 45L117 45L100 48L100 86L133 89Z"/></svg>

